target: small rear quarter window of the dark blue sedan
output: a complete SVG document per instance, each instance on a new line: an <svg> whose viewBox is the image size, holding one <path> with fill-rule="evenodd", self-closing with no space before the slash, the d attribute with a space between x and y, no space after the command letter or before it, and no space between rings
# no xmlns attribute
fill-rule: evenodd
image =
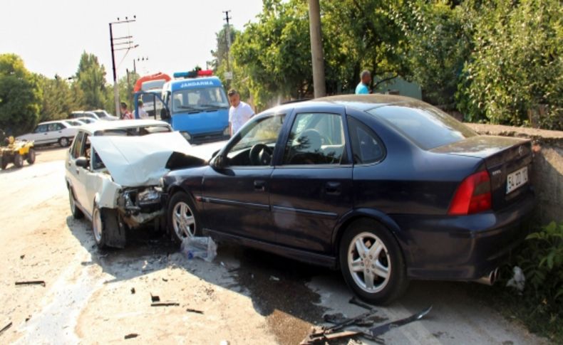
<svg viewBox="0 0 563 345"><path fill-rule="evenodd" d="M348 117L353 164L372 164L381 161L385 149L377 134L366 124Z"/></svg>

